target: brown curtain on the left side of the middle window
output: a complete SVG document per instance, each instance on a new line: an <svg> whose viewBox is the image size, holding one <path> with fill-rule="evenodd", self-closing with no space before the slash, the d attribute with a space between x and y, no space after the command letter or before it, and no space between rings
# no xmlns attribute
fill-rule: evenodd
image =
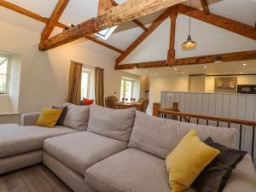
<svg viewBox="0 0 256 192"><path fill-rule="evenodd" d="M81 105L81 80L83 64L71 61L69 69L67 102Z"/></svg>

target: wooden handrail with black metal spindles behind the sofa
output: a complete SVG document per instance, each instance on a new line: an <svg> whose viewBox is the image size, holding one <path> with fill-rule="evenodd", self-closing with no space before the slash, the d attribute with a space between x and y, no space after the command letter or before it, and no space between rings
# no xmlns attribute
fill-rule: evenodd
<svg viewBox="0 0 256 192"><path fill-rule="evenodd" d="M196 122L196 124L199 124L200 120L204 119L207 121L207 125L209 125L209 121L213 121L216 124L211 123L211 125L217 126L217 127L219 126L219 123L227 123L228 128L230 128L230 125L239 125L239 132L240 132L240 134L239 134L239 149L241 149L242 129L251 128L251 129L253 129L252 152L251 152L251 154L253 156L256 121L207 116L207 115L201 115L201 114L195 114L195 113L183 113L183 112L172 111L170 109L159 109L157 116L159 116L160 118L164 118L164 119L174 119L174 120L184 121L187 123L190 123L193 120ZM245 126L247 126L247 127L245 127Z"/></svg>

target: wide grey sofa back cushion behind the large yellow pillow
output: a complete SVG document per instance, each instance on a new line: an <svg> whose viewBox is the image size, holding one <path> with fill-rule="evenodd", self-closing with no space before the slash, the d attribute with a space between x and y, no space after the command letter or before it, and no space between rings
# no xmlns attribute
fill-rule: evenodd
<svg viewBox="0 0 256 192"><path fill-rule="evenodd" d="M170 119L160 119L137 111L129 142L137 148L162 159L172 152L177 143L194 128L201 140L212 137L227 147L236 147L236 129L195 125Z"/></svg>

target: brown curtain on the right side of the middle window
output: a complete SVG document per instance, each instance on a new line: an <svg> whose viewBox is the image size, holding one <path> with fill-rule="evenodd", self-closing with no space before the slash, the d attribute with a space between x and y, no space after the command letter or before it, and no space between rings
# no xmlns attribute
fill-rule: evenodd
<svg viewBox="0 0 256 192"><path fill-rule="evenodd" d="M96 104L104 105L104 69L95 68L95 100Z"/></svg>

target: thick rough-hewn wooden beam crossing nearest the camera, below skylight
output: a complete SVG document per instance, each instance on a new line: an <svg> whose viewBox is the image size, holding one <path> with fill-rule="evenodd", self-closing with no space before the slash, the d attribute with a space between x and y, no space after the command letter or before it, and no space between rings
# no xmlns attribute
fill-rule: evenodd
<svg viewBox="0 0 256 192"><path fill-rule="evenodd" d="M135 20L138 17L152 14L160 9L166 9L184 1L186 0L127 0L123 4L108 9L104 15L100 15L96 19L86 20L67 32L61 32L45 40L39 45L39 49L52 49L83 38L84 34L90 35L106 27L117 26L127 21Z"/></svg>

